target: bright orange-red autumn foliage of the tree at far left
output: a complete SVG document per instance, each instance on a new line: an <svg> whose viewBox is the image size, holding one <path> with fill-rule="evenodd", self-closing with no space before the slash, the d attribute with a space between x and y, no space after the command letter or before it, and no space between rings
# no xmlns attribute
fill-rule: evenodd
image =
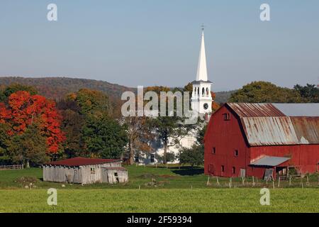
<svg viewBox="0 0 319 227"><path fill-rule="evenodd" d="M55 108L55 102L44 96L18 91L9 96L7 104L0 103L0 123L9 125L8 134L23 134L28 126L38 123L41 135L46 138L49 154L58 153L65 140L60 121L61 116Z"/></svg>

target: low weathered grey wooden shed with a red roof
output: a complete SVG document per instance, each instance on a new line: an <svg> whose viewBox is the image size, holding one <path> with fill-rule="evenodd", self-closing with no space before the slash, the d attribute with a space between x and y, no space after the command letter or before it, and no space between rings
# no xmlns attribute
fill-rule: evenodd
<svg viewBox="0 0 319 227"><path fill-rule="evenodd" d="M121 160L74 157L43 165L43 180L78 184L128 182Z"/></svg>

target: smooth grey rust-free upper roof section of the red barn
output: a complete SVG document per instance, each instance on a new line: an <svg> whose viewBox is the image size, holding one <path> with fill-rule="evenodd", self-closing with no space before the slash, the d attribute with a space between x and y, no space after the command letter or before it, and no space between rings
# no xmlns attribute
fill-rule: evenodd
<svg viewBox="0 0 319 227"><path fill-rule="evenodd" d="M319 116L319 104L272 104L286 116Z"/></svg>

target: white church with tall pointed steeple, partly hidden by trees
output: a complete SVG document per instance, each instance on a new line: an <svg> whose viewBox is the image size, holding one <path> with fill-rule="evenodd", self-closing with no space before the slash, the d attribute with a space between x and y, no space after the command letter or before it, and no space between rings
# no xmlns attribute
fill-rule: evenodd
<svg viewBox="0 0 319 227"><path fill-rule="evenodd" d="M203 29L202 29L203 30ZM206 66L206 52L205 52L205 41L204 33L201 33L201 50L199 52L198 67L196 80L191 82L193 84L193 92L191 94L191 109L198 112L198 116L206 116L206 120L211 115L211 106L213 98L211 96L211 84L208 80L207 66ZM199 126L198 126L199 127ZM191 131L189 135L179 139L179 144L169 146L167 153L174 153L177 155L181 148L191 148L196 143L196 132ZM158 160L157 155L162 156L164 154L164 145L159 139L154 140L152 143L154 152L147 155L138 155L135 157L135 162L142 165L156 164ZM178 163L178 160L169 163Z"/></svg>

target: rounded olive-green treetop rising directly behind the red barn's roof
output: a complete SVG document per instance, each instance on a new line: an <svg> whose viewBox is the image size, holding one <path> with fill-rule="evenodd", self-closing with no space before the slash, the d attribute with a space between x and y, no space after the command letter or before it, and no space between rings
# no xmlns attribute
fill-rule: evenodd
<svg viewBox="0 0 319 227"><path fill-rule="evenodd" d="M233 93L230 102L247 103L298 103L301 95L296 90L277 87L270 82L252 82Z"/></svg>

